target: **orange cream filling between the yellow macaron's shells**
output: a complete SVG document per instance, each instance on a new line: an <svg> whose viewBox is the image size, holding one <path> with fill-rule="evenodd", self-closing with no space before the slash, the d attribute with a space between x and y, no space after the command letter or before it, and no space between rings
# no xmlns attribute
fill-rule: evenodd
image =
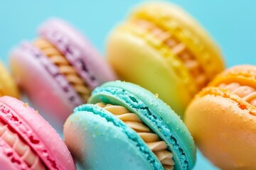
<svg viewBox="0 0 256 170"><path fill-rule="evenodd" d="M164 44L169 48L173 55L176 55L179 60L183 62L188 72L191 74L199 89L206 86L208 78L203 70L201 64L196 60L191 51L186 47L183 42L178 40L175 35L172 35L167 30L156 26L155 23L146 20L134 21L136 26L144 29L146 33L149 33L154 38L159 40L161 44Z"/></svg>

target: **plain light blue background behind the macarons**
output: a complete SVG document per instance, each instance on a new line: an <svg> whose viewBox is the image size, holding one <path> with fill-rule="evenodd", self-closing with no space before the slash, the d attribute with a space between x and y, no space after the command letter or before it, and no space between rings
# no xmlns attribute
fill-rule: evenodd
<svg viewBox="0 0 256 170"><path fill-rule="evenodd" d="M227 67L256 64L256 1L173 1L191 13L223 51ZM108 33L122 21L137 0L108 1L1 1L0 59L8 65L12 47L36 38L36 28L57 16L80 29L104 55ZM201 155L195 169L214 169Z"/></svg>

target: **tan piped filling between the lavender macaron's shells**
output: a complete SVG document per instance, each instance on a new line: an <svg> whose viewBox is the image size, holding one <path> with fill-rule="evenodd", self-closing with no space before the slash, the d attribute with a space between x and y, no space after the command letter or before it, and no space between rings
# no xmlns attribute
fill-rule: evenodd
<svg viewBox="0 0 256 170"><path fill-rule="evenodd" d="M63 74L67 81L78 92L80 97L87 101L90 96L90 90L84 81L78 76L75 69L67 59L47 40L39 38L34 43L44 55L46 55L53 64L58 67L60 74Z"/></svg>

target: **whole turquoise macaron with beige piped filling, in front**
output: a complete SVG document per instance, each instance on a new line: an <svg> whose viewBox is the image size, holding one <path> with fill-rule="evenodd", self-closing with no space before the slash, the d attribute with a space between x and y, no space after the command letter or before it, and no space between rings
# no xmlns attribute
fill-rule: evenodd
<svg viewBox="0 0 256 170"><path fill-rule="evenodd" d="M65 144L82 169L192 169L196 147L182 120L157 95L110 81L65 122Z"/></svg>

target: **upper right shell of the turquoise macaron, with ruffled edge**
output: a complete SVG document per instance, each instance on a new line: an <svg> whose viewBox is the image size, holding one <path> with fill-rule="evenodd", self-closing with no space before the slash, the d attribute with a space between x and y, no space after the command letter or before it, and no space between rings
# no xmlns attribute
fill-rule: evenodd
<svg viewBox="0 0 256 170"><path fill-rule="evenodd" d="M193 168L196 162L196 147L186 125L166 103L150 91L128 82L110 81L92 91L88 102L112 103L136 113L166 142L174 155L174 169Z"/></svg>

